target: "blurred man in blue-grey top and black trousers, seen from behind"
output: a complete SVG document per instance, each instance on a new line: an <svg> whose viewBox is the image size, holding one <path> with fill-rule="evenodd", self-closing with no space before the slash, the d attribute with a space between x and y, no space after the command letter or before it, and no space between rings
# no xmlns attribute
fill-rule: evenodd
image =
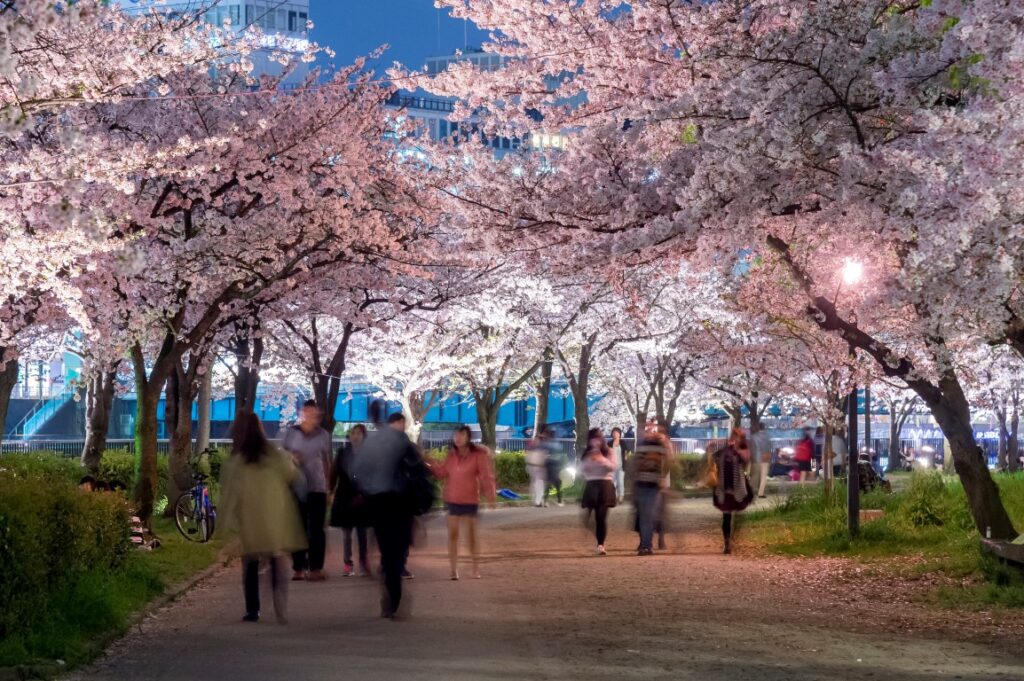
<svg viewBox="0 0 1024 681"><path fill-rule="evenodd" d="M409 557L416 509L408 492L412 476L425 469L423 458L404 430L384 422L384 401L370 405L374 430L355 450L352 471L366 499L367 518L381 551L384 593L381 616L393 619L401 603L401 581ZM424 473L429 475L428 472Z"/></svg>

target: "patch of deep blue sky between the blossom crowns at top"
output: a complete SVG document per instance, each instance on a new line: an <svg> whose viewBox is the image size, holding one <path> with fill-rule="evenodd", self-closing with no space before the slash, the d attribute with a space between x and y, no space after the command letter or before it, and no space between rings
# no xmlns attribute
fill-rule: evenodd
<svg viewBox="0 0 1024 681"><path fill-rule="evenodd" d="M310 0L309 14L314 25L310 37L333 48L339 66L385 43L390 48L377 62L378 73L393 61L419 69L428 56L451 54L465 46L464 23L434 8L433 0ZM486 33L469 25L470 46L485 40Z"/></svg>

